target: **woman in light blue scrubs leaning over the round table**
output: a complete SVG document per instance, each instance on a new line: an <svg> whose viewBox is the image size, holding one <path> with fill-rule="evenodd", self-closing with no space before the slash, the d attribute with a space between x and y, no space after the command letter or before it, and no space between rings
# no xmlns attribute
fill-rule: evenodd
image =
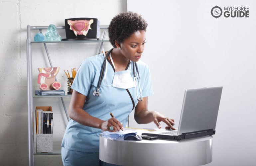
<svg viewBox="0 0 256 166"><path fill-rule="evenodd" d="M167 129L175 129L172 126L174 120L148 111L148 96L153 94L151 76L149 67L139 61L146 43L146 28L146 21L136 13L124 12L115 16L108 29L109 41L114 48L107 53L106 63L103 54L81 63L71 87L70 121L62 141L64 165L98 165L99 134L102 130L123 129L134 108L138 124L154 121L160 128L162 121L167 124ZM101 72L103 64L105 69ZM134 83L136 68L139 73L135 72L136 79L140 77L140 81ZM99 79L102 81L97 96ZM110 112L115 118L110 117ZM107 163L101 165L104 164Z"/></svg>

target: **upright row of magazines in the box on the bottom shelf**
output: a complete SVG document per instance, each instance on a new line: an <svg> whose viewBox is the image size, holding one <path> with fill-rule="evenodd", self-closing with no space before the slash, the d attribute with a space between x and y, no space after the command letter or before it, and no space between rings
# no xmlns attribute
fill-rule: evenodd
<svg viewBox="0 0 256 166"><path fill-rule="evenodd" d="M37 134L53 133L53 112L36 110L36 131Z"/></svg>

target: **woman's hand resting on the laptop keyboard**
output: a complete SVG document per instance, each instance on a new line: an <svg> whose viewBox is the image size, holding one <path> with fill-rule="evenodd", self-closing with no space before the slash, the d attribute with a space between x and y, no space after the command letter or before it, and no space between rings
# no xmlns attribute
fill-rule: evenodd
<svg viewBox="0 0 256 166"><path fill-rule="evenodd" d="M165 129L175 130L175 128L173 127L174 119L169 119L169 118L165 117L164 115L162 115L162 114L160 114L159 112L156 112L156 111L153 111L152 115L153 115L153 122L157 125L158 128L161 128L161 124L159 124L159 123L164 122L164 123L167 124Z"/></svg>

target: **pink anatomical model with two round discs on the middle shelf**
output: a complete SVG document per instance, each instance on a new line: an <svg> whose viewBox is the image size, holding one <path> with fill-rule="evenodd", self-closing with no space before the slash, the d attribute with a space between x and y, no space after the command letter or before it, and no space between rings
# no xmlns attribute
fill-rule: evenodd
<svg viewBox="0 0 256 166"><path fill-rule="evenodd" d="M59 73L60 67L44 67L38 68L39 74L37 83L40 84L41 90L59 90L61 83L55 81L56 75Z"/></svg>

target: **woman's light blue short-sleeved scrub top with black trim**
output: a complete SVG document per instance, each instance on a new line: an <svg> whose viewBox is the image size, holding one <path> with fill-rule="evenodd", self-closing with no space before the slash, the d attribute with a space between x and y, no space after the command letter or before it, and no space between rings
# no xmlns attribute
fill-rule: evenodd
<svg viewBox="0 0 256 166"><path fill-rule="evenodd" d="M100 86L100 95L93 96L93 91L96 90L98 84L103 61L103 54L95 55L83 60L71 88L87 96L83 105L83 110L88 114L103 121L107 121L111 118L109 115L111 112L123 126L126 126L129 114L132 112L133 107L136 107L138 104L136 88L133 87L128 89L134 101L133 105L133 101L126 89L108 86L112 84L114 70L111 66L111 62L107 61L107 84L103 78ZM130 63L130 65L132 65L132 63ZM140 74L142 95L143 97L150 96L153 94L153 88L149 67L141 61L138 61L137 65ZM128 69L129 68L130 66ZM132 68L131 76L133 78ZM139 94L138 88L138 95ZM100 128L85 126L70 119L64 133L62 147L80 152L99 152L100 133Z"/></svg>

